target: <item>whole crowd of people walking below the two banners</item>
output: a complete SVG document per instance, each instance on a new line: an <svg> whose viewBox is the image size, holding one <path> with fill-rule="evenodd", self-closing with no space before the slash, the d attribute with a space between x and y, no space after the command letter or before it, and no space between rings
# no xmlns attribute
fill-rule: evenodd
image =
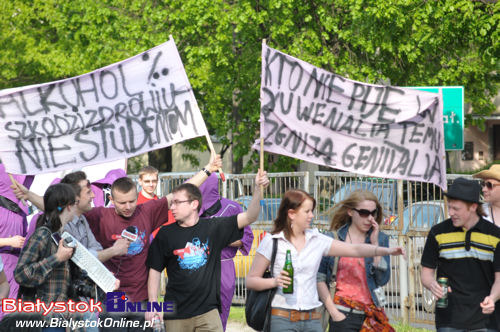
<svg viewBox="0 0 500 332"><path fill-rule="evenodd" d="M78 274L71 262L75 249L55 236L68 232L114 274L115 289L127 301L144 307L157 302L166 271L163 300L174 305L169 313L158 308L146 313L105 310L80 313L79 319L140 323L105 329L110 331L143 330L144 322L153 320L163 322L167 331L224 331L235 289L233 257L238 250L250 252L250 224L259 216L269 179L259 170L252 200L243 211L219 194L215 173L221 164L213 156L164 197L156 195L158 170L151 166L139 172L139 192L123 170L94 183L77 171L54 180L39 196L29 190L31 177L11 180L0 165L0 299L104 302L97 287L91 294L73 287ZM423 286L437 299L447 298L446 307L436 308L441 332L497 331L500 326L500 310L495 310L500 298L500 165L474 177L481 185L464 178L451 184L445 193L450 218L431 228L422 255ZM43 211L29 226L23 201ZM365 190L352 192L333 207L326 233L311 227L315 206L314 197L303 190L283 194L273 228L260 242L247 275L248 289L277 289L269 330L394 331L383 309L381 287L390 278L389 256L405 252L389 247L389 237L380 229L384 216L377 197ZM270 266L273 244L277 250ZM293 275L284 269L286 259ZM268 269L274 278L264 277ZM443 277L445 288L437 281ZM290 285L292 292L287 291Z"/></svg>

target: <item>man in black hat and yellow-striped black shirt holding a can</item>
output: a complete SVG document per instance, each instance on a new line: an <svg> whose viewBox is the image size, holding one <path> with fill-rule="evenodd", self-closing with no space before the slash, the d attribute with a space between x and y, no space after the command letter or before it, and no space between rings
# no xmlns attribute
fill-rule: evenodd
<svg viewBox="0 0 500 332"><path fill-rule="evenodd" d="M497 331L500 298L500 228L483 218L476 181L457 178L445 194L450 218L429 231L421 279L436 298L448 278L448 306L436 307L438 332ZM436 275L437 269L437 275Z"/></svg>

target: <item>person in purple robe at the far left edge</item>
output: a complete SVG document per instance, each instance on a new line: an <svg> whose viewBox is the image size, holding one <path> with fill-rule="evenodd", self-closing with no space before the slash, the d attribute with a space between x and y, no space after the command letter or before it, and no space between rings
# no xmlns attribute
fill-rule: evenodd
<svg viewBox="0 0 500 332"><path fill-rule="evenodd" d="M29 188L33 183L31 175L12 175L17 182ZM4 263L5 276L10 285L9 298L16 298L19 285L14 280L14 269L19 259L19 253L24 246L29 214L28 205L16 198L10 188L12 182L0 164L0 256ZM3 316L0 313L0 318Z"/></svg>

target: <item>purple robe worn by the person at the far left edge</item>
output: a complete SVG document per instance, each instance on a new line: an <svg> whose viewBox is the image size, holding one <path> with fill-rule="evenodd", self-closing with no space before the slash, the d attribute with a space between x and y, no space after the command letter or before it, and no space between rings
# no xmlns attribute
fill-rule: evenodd
<svg viewBox="0 0 500 332"><path fill-rule="evenodd" d="M31 183L33 183L33 176L31 175L12 176L26 188L29 188ZM16 198L14 192L10 188L11 185L12 182L10 181L9 175L5 172L4 165L0 164L0 195L16 203L21 209L21 212L18 214L0 207L0 238L8 238L15 235L26 236L28 227L28 221L26 219L29 213L28 206L24 205ZM10 246L0 248L0 256L3 260L5 276L10 286L9 298L16 298L19 289L19 285L14 280L14 269L16 268L20 252L21 249L12 248ZM0 317L1 316L3 316L3 314L0 313Z"/></svg>

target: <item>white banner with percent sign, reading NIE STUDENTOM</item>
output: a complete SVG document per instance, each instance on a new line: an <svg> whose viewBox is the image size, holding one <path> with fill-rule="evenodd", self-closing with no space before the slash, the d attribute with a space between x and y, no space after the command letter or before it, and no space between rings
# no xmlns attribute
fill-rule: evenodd
<svg viewBox="0 0 500 332"><path fill-rule="evenodd" d="M0 158L14 174L110 162L206 134L173 39L85 75L0 91Z"/></svg>

